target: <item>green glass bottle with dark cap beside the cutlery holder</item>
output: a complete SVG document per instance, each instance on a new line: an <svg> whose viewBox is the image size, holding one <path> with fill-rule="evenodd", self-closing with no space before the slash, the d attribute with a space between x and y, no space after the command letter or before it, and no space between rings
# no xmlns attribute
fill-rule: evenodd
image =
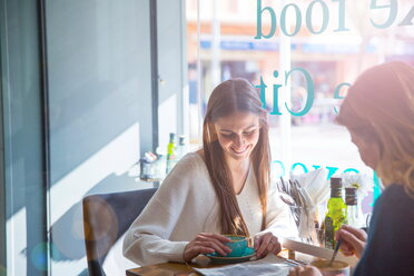
<svg viewBox="0 0 414 276"><path fill-rule="evenodd" d="M335 231L346 219L346 205L342 198L342 179L331 178L331 198L327 204L328 213L325 217L325 247L335 248Z"/></svg>

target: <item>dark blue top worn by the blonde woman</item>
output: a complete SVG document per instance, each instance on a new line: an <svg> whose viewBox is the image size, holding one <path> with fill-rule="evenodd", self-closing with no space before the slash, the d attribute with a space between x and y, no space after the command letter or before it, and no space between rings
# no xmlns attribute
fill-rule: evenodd
<svg viewBox="0 0 414 276"><path fill-rule="evenodd" d="M414 199L400 185L377 199L354 276L414 276Z"/></svg>

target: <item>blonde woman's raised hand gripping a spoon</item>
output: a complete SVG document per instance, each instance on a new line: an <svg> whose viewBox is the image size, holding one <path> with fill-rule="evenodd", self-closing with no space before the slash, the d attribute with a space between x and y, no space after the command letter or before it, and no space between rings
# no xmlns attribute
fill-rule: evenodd
<svg viewBox="0 0 414 276"><path fill-rule="evenodd" d="M352 256L361 258L366 244L366 233L362 229L357 229L347 225L343 225L335 234L336 240L342 239L341 249L345 256Z"/></svg>

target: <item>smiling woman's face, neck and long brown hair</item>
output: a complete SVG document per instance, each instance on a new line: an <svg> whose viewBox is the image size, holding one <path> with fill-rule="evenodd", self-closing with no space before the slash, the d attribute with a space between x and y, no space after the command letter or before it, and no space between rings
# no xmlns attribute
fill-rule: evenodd
<svg viewBox="0 0 414 276"><path fill-rule="evenodd" d="M253 129L255 131L252 134L255 135L245 136L246 130ZM233 79L214 89L204 120L203 142L203 154L216 194L221 206L225 203L227 205L221 210L225 233L248 235L236 198L228 195L243 188L243 180L250 166L250 154L264 228L270 164L268 125L266 110L262 108L259 96L248 81Z"/></svg>

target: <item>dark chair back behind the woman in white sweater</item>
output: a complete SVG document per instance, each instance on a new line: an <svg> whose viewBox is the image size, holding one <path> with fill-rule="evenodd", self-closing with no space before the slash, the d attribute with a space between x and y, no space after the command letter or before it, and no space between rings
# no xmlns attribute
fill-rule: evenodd
<svg viewBox="0 0 414 276"><path fill-rule="evenodd" d="M91 195L82 200L85 244L90 276L105 276L102 264L157 189Z"/></svg>

